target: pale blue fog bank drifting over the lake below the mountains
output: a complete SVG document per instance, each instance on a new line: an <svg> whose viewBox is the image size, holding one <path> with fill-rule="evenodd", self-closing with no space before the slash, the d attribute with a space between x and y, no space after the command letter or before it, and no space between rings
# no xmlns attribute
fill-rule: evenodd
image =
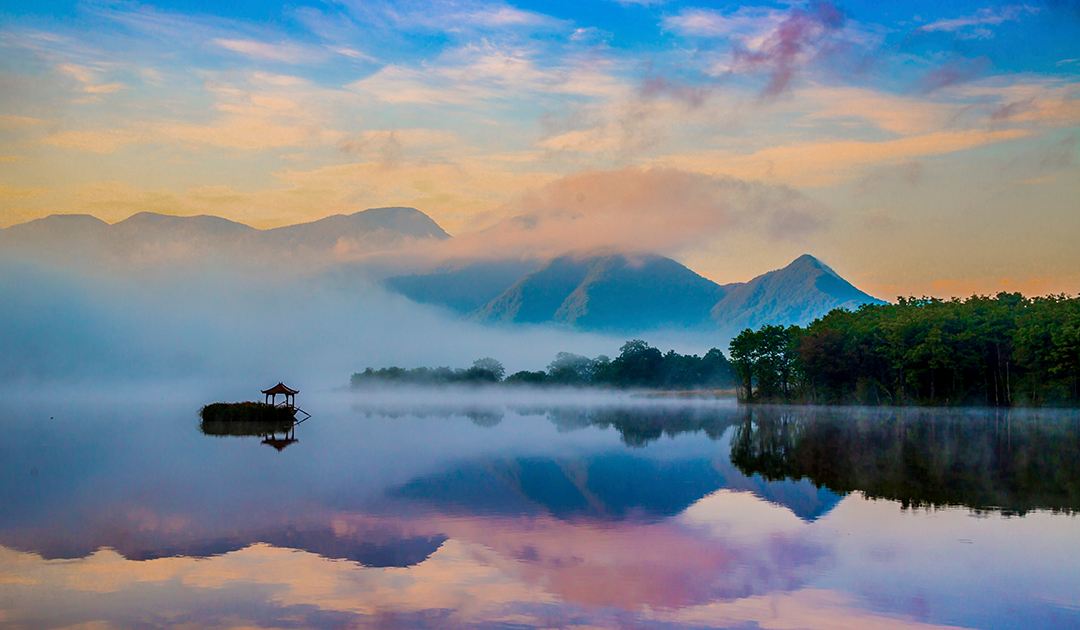
<svg viewBox="0 0 1080 630"><path fill-rule="evenodd" d="M462 321L362 274L105 276L0 262L0 376L23 385L207 379L332 388L368 366L463 367L494 357L508 373L540 370L558 351L617 354L631 336ZM679 351L726 347L719 338L645 338Z"/></svg>

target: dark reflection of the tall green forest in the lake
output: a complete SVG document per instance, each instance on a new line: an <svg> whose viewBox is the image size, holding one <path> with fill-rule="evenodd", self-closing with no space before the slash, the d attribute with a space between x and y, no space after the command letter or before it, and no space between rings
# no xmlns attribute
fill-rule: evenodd
<svg viewBox="0 0 1080 630"><path fill-rule="evenodd" d="M904 508L1080 509L1080 418L1017 412L746 411L731 460Z"/></svg>

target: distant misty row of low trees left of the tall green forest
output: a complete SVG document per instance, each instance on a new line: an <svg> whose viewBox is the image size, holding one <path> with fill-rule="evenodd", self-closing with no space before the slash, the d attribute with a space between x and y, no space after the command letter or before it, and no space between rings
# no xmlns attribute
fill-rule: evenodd
<svg viewBox="0 0 1080 630"><path fill-rule="evenodd" d="M734 385L734 373L724 352L713 348L704 356L662 352L640 339L623 344L609 359L558 352L543 371L507 375L502 363L489 357L470 367L368 367L352 375L353 387L366 385L532 385L648 389L724 388Z"/></svg>

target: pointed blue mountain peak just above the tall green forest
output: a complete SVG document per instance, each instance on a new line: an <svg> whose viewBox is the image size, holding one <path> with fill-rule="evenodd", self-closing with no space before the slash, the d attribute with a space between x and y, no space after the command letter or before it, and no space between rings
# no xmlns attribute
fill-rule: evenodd
<svg viewBox="0 0 1080 630"><path fill-rule="evenodd" d="M717 324L735 332L764 324L806 324L835 308L885 304L809 254L750 282L725 285L725 290L710 314Z"/></svg>

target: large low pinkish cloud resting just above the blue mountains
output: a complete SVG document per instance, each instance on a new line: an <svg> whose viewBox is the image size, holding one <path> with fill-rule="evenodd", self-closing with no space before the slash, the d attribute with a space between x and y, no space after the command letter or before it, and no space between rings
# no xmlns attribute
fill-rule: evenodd
<svg viewBox="0 0 1080 630"><path fill-rule="evenodd" d="M782 186L674 169L622 169L556 179L508 203L491 227L459 234L453 254L540 256L679 251L729 233L801 236L822 227L818 204ZM486 254L485 254L486 252Z"/></svg>

